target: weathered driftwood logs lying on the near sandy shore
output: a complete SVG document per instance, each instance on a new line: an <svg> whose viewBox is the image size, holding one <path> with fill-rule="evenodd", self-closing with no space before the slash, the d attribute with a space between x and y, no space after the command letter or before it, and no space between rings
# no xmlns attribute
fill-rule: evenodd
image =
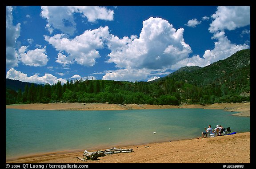
<svg viewBox="0 0 256 169"><path fill-rule="evenodd" d="M98 157L104 157L106 154L116 154L116 153L130 153L133 149L116 149L116 147L111 149L106 149L104 151L98 150L96 152L88 152L87 150L84 151L84 158L78 157L78 159L82 161L86 160L97 160Z"/></svg>

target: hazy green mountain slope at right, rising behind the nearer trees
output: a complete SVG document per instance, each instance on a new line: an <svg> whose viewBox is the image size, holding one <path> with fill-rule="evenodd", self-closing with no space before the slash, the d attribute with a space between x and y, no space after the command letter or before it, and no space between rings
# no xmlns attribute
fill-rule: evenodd
<svg viewBox="0 0 256 169"><path fill-rule="evenodd" d="M232 72L237 74L240 71L246 71L244 73L247 75L246 78L248 78L250 77L250 56L250 49L244 49L206 67L181 67L179 70L163 78L156 79L156 81L171 77L175 80L202 86L214 80L221 82L221 79L229 78L225 76L233 76Z"/></svg>

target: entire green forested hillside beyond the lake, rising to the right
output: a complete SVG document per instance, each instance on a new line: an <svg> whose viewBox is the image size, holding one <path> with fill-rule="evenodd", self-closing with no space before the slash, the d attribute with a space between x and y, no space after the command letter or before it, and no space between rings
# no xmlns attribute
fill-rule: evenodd
<svg viewBox="0 0 256 169"><path fill-rule="evenodd" d="M212 104L250 101L250 49L241 50L206 67L182 67L153 82L68 80L67 83L6 83L6 104L49 102L108 102L118 104Z"/></svg>

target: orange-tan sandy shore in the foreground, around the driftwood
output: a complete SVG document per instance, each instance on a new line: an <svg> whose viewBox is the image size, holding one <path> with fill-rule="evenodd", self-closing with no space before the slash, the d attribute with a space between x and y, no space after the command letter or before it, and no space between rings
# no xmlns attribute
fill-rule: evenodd
<svg viewBox="0 0 256 169"><path fill-rule="evenodd" d="M217 143L217 144L216 144ZM225 144L228 146L221 146ZM188 146L189 145L189 146ZM232 146L230 146L232 145ZM243 145L243 146L241 146ZM107 147L106 149L108 149ZM111 147L112 148L112 147ZM155 142L143 145L117 146L133 149L131 153L109 154L98 160L81 161L84 150L40 153L7 163L250 163L250 132L213 138L192 138L176 141ZM89 152L97 151L86 149ZM100 149L104 150L104 149ZM219 161L214 161L219 156Z"/></svg>

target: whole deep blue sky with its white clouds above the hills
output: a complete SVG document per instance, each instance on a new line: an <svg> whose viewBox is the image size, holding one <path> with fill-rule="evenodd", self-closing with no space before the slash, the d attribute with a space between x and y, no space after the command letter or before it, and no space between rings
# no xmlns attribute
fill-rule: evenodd
<svg viewBox="0 0 256 169"><path fill-rule="evenodd" d="M6 78L150 81L250 48L250 6L6 6Z"/></svg>

